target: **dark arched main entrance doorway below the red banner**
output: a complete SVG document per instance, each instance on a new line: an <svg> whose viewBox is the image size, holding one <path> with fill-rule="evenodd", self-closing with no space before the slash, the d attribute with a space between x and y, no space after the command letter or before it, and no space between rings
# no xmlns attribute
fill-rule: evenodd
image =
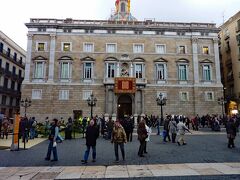
<svg viewBox="0 0 240 180"><path fill-rule="evenodd" d="M121 95L118 98L117 117L124 118L124 115L132 115L132 98L129 95Z"/></svg>

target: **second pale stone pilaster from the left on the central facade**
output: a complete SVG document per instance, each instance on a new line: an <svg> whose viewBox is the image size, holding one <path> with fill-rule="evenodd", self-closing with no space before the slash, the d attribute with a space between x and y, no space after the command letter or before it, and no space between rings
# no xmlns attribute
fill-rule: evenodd
<svg viewBox="0 0 240 180"><path fill-rule="evenodd" d="M56 47L56 34L50 34L50 58L49 58L49 71L48 71L48 82L54 80L54 61L55 61L55 47Z"/></svg>

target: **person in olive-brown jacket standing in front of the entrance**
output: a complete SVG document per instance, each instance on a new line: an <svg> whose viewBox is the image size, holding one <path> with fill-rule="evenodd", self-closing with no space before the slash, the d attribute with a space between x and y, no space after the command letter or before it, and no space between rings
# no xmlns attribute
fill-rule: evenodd
<svg viewBox="0 0 240 180"><path fill-rule="evenodd" d="M125 161L124 143L127 143L127 135L118 120L114 123L111 143L114 143L114 152L115 152L116 162L119 162L118 146L120 146L122 159L123 161Z"/></svg>

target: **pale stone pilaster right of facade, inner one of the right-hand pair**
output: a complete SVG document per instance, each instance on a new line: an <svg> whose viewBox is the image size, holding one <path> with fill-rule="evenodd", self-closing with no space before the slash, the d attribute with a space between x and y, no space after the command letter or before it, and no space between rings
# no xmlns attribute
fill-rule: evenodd
<svg viewBox="0 0 240 180"><path fill-rule="evenodd" d="M194 84L199 83L199 69L198 69L198 38L192 38L192 54L193 54L193 74Z"/></svg>

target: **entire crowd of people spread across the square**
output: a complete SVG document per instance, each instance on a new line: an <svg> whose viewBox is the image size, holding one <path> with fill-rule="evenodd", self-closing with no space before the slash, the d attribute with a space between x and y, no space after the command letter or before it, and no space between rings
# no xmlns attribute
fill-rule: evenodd
<svg viewBox="0 0 240 180"><path fill-rule="evenodd" d="M77 122L77 123L76 123ZM90 151L92 150L92 162L96 161L96 144L97 138L102 136L114 144L115 161L119 162L119 149L121 151L122 160L125 161L124 144L133 140L133 132L136 127L137 139L139 141L138 156L144 157L147 153L147 142L150 141L152 128L157 129L157 135L162 136L164 143L177 143L179 146L186 145L185 133L198 131L199 128L211 128L213 131L220 131L221 127L226 128L228 138L228 148L234 148L234 139L238 132L240 124L239 116L217 116L205 115L200 117L186 117L182 115L166 115L165 118L159 116L138 116L137 124L134 122L133 116L124 116L122 119L113 120L109 117L105 120L104 116L90 119L88 117L80 117L73 120L71 117L65 121L53 119L50 122L48 117L45 119L45 134L48 134L49 145L45 160L50 160L51 152L53 152L53 161L58 161L57 142L62 142L63 138L60 135L62 130L60 126L64 124L65 139L72 139L74 123L78 124L81 129L82 137L86 139L86 151L82 159L82 163L88 162ZM0 137L8 138L9 129L12 122L5 116L0 114ZM163 127L160 132L160 126ZM37 137L37 120L35 117L22 117L19 124L19 138L22 142L27 142L28 139ZM190 131L191 130L191 131Z"/></svg>

